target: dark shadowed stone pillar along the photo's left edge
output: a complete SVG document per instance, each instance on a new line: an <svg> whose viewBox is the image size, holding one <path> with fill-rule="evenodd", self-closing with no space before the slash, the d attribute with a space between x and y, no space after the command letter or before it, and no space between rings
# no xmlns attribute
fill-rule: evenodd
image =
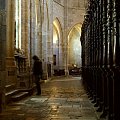
<svg viewBox="0 0 120 120"><path fill-rule="evenodd" d="M6 83L6 0L0 1L0 112L5 107Z"/></svg>

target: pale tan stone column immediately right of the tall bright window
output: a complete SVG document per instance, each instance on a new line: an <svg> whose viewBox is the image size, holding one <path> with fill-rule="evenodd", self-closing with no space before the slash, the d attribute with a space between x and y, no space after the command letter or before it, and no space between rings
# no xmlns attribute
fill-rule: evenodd
<svg viewBox="0 0 120 120"><path fill-rule="evenodd" d="M29 51L28 51L28 36L29 36L29 31L28 31L28 27L29 27L29 21L28 21L28 6L29 3L26 0L22 0L21 2L21 50L22 50L22 54L25 56L26 58L26 68L28 68L29 66Z"/></svg>

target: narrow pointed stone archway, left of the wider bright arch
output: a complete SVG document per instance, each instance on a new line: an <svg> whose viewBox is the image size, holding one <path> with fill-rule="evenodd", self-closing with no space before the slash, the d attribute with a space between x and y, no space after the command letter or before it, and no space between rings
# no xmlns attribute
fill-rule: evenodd
<svg viewBox="0 0 120 120"><path fill-rule="evenodd" d="M63 34L58 18L53 21L53 70L63 70Z"/></svg>

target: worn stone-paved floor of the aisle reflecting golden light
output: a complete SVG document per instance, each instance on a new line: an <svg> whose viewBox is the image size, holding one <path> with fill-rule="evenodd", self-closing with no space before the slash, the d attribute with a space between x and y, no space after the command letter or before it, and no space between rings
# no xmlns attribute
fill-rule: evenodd
<svg viewBox="0 0 120 120"><path fill-rule="evenodd" d="M81 77L57 77L32 95L6 107L0 120L99 120Z"/></svg>

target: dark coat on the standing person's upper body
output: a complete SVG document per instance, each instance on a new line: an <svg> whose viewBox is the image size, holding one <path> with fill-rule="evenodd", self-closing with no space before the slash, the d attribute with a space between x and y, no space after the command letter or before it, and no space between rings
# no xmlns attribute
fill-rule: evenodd
<svg viewBox="0 0 120 120"><path fill-rule="evenodd" d="M41 61L39 61L39 60L34 61L33 74L34 75L42 75L42 62Z"/></svg>

